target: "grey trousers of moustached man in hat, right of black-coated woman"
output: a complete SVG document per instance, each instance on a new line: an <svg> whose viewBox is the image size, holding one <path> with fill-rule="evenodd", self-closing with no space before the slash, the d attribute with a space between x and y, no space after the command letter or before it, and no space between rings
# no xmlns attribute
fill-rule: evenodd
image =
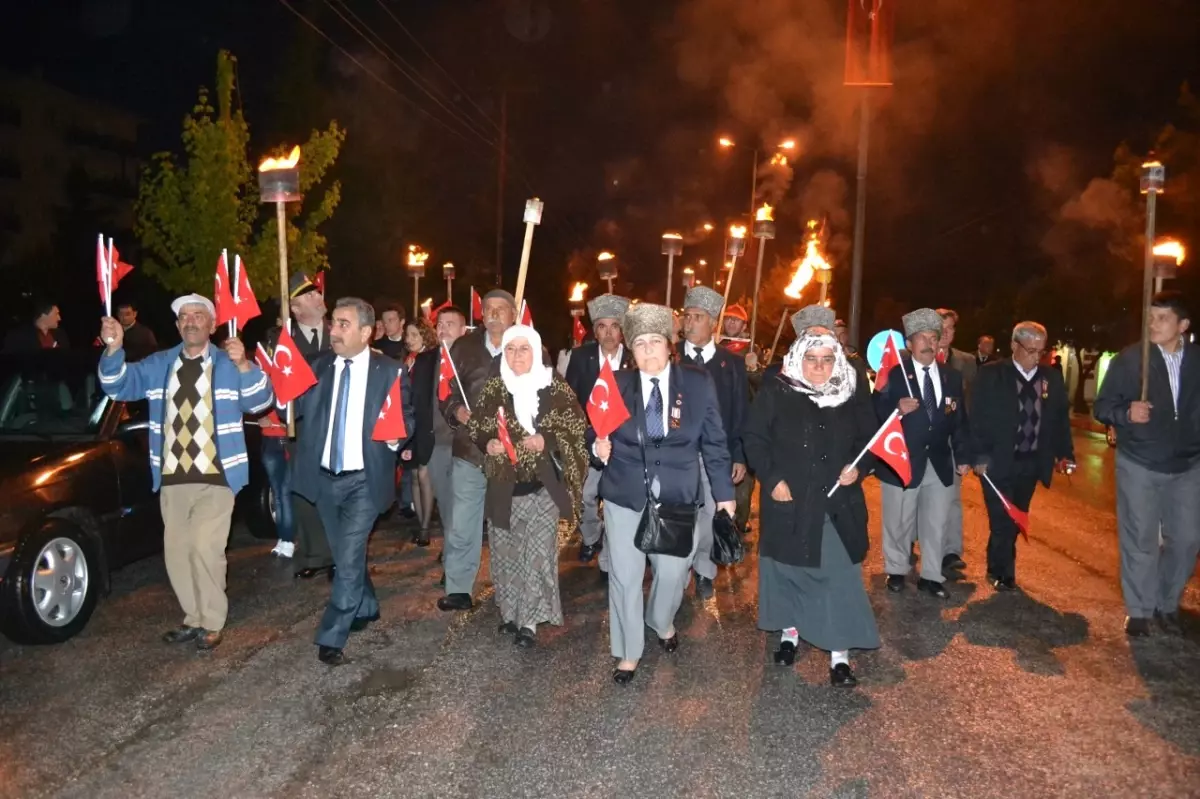
<svg viewBox="0 0 1200 799"><path fill-rule="evenodd" d="M917 486L900 488L880 483L883 493L883 567L889 575L907 575L913 540L920 541L920 576L944 582L942 558L949 552L947 528L950 505L960 495L956 485L943 486L929 463ZM961 498L960 498L961 507Z"/></svg>

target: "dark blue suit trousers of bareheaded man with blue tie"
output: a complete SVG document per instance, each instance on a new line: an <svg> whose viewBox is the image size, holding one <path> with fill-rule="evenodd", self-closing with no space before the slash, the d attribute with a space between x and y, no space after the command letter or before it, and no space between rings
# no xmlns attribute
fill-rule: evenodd
<svg viewBox="0 0 1200 799"><path fill-rule="evenodd" d="M337 573L316 643L341 649L354 619L379 615L379 601L367 573L367 540L378 513L371 503L366 471L336 477L322 473L317 510L325 524Z"/></svg>

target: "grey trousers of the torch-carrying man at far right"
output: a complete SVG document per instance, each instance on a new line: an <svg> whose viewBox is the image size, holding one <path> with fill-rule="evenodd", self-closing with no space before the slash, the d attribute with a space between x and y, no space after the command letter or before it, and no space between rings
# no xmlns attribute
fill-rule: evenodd
<svg viewBox="0 0 1200 799"><path fill-rule="evenodd" d="M1200 552L1200 464L1183 474L1162 474L1118 450L1116 471L1126 612L1141 619L1154 611L1175 613Z"/></svg>

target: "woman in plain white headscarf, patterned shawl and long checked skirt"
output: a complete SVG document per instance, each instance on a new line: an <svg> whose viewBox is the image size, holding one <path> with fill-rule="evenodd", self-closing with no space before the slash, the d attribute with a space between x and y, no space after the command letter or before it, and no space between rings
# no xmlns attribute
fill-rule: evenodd
<svg viewBox="0 0 1200 799"><path fill-rule="evenodd" d="M575 392L542 364L538 331L509 328L500 350L500 377L484 385L467 432L487 456L485 515L499 629L528 649L539 624L563 623L558 519L572 528L578 521L587 422ZM502 416L511 455L502 440Z"/></svg>

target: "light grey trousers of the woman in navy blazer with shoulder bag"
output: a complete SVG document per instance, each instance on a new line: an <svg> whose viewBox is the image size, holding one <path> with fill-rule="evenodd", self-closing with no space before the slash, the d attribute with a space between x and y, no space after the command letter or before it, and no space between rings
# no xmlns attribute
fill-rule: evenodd
<svg viewBox="0 0 1200 799"><path fill-rule="evenodd" d="M688 566L691 558L647 555L634 546L641 511L611 501L604 504L605 530L610 553L608 565L608 637L612 656L620 660L641 660L646 644L644 626L665 638L674 626L674 617L688 587ZM697 521L697 528L700 523ZM709 524L712 528L712 524ZM698 529L697 529L698 533ZM698 535L695 536L700 539ZM642 595L646 558L654 569L650 599Z"/></svg>

